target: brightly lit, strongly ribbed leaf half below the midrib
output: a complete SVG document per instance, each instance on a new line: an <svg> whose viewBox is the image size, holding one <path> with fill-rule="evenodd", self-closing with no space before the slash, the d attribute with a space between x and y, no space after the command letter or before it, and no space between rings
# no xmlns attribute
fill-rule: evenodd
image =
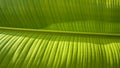
<svg viewBox="0 0 120 68"><path fill-rule="evenodd" d="M119 37L0 31L0 68L119 67Z"/></svg>

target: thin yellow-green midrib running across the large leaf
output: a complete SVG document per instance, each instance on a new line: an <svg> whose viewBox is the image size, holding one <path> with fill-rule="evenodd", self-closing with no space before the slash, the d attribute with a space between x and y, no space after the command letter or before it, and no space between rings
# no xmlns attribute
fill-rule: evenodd
<svg viewBox="0 0 120 68"><path fill-rule="evenodd" d="M28 29L28 28L13 28L13 27L0 27L0 30L42 32L42 33L59 33L59 34L77 34L77 35L95 35L95 36L113 36L113 37L116 36L116 37L120 37L120 34L113 34L113 33L72 32L72 31L45 30L45 29Z"/></svg>

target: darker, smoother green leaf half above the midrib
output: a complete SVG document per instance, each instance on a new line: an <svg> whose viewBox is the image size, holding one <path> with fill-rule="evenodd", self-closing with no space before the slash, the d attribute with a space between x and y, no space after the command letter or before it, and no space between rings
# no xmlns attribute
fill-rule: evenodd
<svg viewBox="0 0 120 68"><path fill-rule="evenodd" d="M120 33L118 0L0 0L0 26Z"/></svg>

